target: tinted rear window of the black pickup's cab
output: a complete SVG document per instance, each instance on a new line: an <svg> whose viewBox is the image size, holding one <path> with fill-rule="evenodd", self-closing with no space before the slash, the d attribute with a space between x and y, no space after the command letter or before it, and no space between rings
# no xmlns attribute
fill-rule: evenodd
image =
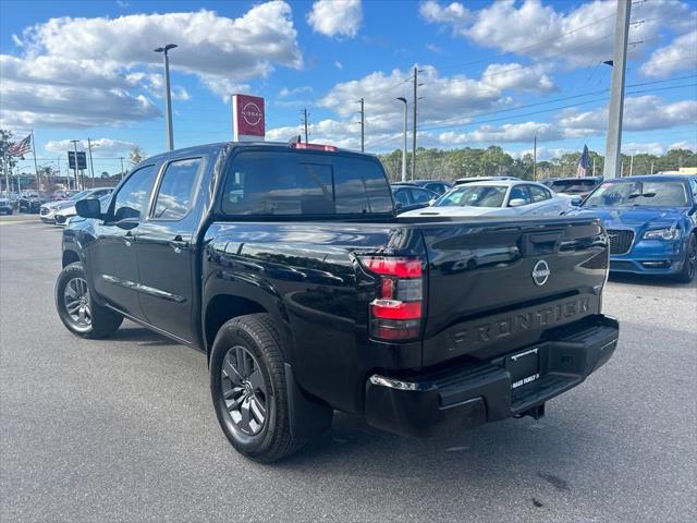
<svg viewBox="0 0 697 523"><path fill-rule="evenodd" d="M338 154L250 150L228 172L227 215L391 212L392 197L375 160Z"/></svg>

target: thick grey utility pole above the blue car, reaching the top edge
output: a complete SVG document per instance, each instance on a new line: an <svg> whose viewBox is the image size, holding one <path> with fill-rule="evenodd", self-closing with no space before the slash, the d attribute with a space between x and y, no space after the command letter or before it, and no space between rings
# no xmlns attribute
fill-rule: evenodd
<svg viewBox="0 0 697 523"><path fill-rule="evenodd" d="M606 142L604 178L615 178L621 167L622 115L624 112L624 78L627 60L627 36L632 0L617 0L617 17L614 27L614 59L612 61L612 85L608 110L608 136Z"/></svg>

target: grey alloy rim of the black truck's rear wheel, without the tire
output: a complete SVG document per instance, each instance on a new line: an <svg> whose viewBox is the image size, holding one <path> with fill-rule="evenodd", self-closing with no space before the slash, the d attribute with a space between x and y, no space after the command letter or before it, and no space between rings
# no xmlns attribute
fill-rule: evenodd
<svg viewBox="0 0 697 523"><path fill-rule="evenodd" d="M247 436L261 431L267 419L268 394L261 368L244 346L230 349L221 367L222 398L235 427Z"/></svg>

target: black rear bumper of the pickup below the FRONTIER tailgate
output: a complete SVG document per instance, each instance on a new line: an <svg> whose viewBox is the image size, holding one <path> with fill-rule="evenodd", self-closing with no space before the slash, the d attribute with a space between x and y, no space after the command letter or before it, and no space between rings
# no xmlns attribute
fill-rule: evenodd
<svg viewBox="0 0 697 523"><path fill-rule="evenodd" d="M536 348L539 353L539 378L515 389L505 356L404 379L372 375L366 382L366 421L392 433L428 437L540 413L547 400L577 386L610 358L619 333L614 318L594 315L513 351Z"/></svg>

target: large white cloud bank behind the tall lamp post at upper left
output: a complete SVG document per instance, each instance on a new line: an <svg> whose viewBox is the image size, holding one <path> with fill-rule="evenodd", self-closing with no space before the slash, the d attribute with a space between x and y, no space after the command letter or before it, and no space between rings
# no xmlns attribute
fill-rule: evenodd
<svg viewBox="0 0 697 523"><path fill-rule="evenodd" d="M162 57L173 41L171 68L197 75L227 99L247 90L247 78L274 66L301 68L291 8L281 0L253 7L237 19L212 11L129 14L115 19L50 19L26 28L23 56L0 56L0 121L7 126L86 127L152 119L160 110ZM174 85L172 97L191 98Z"/></svg>

